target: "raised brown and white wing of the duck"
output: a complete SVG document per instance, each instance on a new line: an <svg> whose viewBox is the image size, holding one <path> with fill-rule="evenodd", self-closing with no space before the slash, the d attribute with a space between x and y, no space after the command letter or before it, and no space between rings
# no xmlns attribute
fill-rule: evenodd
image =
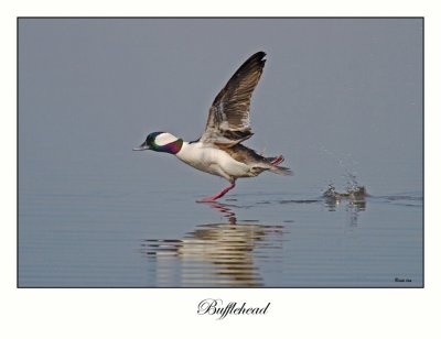
<svg viewBox="0 0 441 339"><path fill-rule="evenodd" d="M214 99L202 142L233 146L252 135L249 107L263 72L265 56L258 52L249 57Z"/></svg>

